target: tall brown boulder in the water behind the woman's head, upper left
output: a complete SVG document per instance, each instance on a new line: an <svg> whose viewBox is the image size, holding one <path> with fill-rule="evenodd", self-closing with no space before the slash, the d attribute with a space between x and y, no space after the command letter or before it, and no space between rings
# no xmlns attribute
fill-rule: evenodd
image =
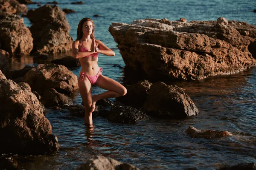
<svg viewBox="0 0 256 170"><path fill-rule="evenodd" d="M71 50L70 25L60 7L44 5L28 12L28 18L33 23L30 27L33 51L49 54Z"/></svg>

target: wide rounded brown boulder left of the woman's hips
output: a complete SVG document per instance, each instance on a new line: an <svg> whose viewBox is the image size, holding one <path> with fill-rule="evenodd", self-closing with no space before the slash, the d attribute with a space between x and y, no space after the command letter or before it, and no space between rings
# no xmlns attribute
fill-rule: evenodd
<svg viewBox="0 0 256 170"><path fill-rule="evenodd" d="M75 74L63 65L40 64L28 71L24 79L32 91L43 94L48 88L54 88L59 93L71 94L78 88Z"/></svg>

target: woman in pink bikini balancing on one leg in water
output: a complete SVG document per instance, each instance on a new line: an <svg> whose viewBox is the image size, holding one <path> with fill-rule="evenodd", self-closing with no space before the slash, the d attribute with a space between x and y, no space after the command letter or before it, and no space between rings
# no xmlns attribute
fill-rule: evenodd
<svg viewBox="0 0 256 170"><path fill-rule="evenodd" d="M81 63L78 85L84 103L84 122L87 125L93 124L92 113L98 100L126 94L126 88L119 82L102 75L102 68L97 63L99 53L106 56L115 56L115 53L100 40L95 40L94 28L93 20L83 18L77 27L77 39L72 44L72 56ZM92 85L108 91L92 96Z"/></svg>

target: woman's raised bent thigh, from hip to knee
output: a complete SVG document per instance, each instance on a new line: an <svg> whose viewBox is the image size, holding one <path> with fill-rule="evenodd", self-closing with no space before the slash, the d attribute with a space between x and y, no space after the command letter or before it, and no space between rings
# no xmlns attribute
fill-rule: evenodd
<svg viewBox="0 0 256 170"><path fill-rule="evenodd" d="M123 85L111 78L103 76L102 74L99 75L95 85L108 91L115 91L120 94L126 94L126 88Z"/></svg>

